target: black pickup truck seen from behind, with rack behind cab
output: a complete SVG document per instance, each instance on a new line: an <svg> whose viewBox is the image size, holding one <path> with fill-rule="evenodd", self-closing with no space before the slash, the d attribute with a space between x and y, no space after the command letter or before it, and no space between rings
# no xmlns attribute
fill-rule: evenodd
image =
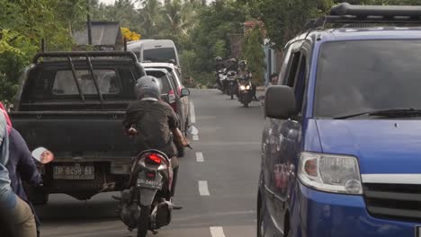
<svg viewBox="0 0 421 237"><path fill-rule="evenodd" d="M30 190L36 204L51 193L85 200L123 189L133 147L121 121L134 84L145 75L126 51L46 52L22 75L11 118L30 149L46 146L55 161L44 167L44 186Z"/></svg>

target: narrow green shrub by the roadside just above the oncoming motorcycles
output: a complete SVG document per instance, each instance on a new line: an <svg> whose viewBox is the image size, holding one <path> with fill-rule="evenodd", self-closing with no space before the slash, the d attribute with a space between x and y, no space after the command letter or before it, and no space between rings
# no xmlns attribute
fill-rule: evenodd
<svg viewBox="0 0 421 237"><path fill-rule="evenodd" d="M263 35L258 26L247 32L246 39L243 44L242 58L248 62L248 70L253 74L255 84L264 82L264 49Z"/></svg>

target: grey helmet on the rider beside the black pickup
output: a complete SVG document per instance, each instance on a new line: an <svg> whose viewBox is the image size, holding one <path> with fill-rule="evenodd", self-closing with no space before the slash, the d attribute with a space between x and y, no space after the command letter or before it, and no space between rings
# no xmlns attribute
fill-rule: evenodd
<svg viewBox="0 0 421 237"><path fill-rule="evenodd" d="M144 75L138 79L135 85L135 93L138 100L145 98L161 99L162 83L154 76Z"/></svg>

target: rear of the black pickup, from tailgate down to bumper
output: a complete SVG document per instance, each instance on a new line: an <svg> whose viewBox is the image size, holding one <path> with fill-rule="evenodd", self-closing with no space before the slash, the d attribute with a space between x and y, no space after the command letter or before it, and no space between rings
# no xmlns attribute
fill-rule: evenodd
<svg viewBox="0 0 421 237"><path fill-rule="evenodd" d="M31 150L48 146L55 154L55 162L45 167L46 193L66 193L83 200L102 191L121 190L128 181L130 158L136 154L122 131L124 112L12 112L10 116ZM74 178L54 178L55 167L75 165L93 166L94 176L75 178L75 173Z"/></svg>

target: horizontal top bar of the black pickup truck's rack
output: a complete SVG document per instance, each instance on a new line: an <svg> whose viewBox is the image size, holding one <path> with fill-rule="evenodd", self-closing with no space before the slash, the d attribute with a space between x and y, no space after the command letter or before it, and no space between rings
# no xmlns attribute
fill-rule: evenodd
<svg viewBox="0 0 421 237"><path fill-rule="evenodd" d="M134 62L138 61L138 57L131 51L55 51L36 54L32 59L32 63L37 64L41 57L127 57Z"/></svg>

